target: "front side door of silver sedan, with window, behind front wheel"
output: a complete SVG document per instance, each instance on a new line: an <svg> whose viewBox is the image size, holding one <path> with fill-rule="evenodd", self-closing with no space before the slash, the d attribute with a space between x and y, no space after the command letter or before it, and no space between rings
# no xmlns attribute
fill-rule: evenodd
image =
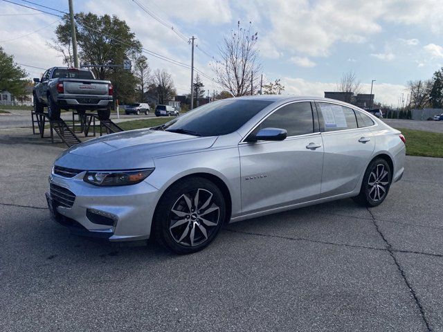
<svg viewBox="0 0 443 332"><path fill-rule="evenodd" d="M311 102L286 104L253 131L269 127L286 129L285 140L239 143L243 214L320 196L323 142L312 105Z"/></svg>

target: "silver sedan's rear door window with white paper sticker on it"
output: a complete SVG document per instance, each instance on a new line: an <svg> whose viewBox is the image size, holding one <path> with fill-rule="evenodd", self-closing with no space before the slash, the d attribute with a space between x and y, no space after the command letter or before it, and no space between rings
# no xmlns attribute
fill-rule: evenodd
<svg viewBox="0 0 443 332"><path fill-rule="evenodd" d="M353 109L328 102L319 102L324 131L356 129L357 121Z"/></svg>

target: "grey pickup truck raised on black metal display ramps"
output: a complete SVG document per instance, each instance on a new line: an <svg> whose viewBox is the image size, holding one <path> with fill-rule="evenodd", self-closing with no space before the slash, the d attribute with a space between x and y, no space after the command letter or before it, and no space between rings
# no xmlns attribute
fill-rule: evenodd
<svg viewBox="0 0 443 332"><path fill-rule="evenodd" d="M96 80L87 69L53 67L34 82L34 110L43 113L48 107L51 120L60 119L61 109L80 113L97 110L100 120L109 119L114 91L111 81Z"/></svg>

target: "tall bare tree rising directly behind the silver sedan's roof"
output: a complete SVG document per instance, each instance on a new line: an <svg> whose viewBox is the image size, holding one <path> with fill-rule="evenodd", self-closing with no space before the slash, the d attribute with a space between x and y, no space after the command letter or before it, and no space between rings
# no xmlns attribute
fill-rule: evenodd
<svg viewBox="0 0 443 332"><path fill-rule="evenodd" d="M257 33L251 33L251 22L246 30L238 21L237 30L224 37L219 53L221 61L215 65L217 82L235 97L251 94L251 83L252 93L255 93L261 65L258 62Z"/></svg>

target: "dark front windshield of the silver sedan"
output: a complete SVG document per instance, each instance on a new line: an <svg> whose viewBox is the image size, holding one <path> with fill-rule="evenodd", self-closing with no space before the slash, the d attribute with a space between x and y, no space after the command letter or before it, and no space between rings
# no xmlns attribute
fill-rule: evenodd
<svg viewBox="0 0 443 332"><path fill-rule="evenodd" d="M219 100L210 102L164 124L161 129L195 136L233 133L272 101Z"/></svg>

